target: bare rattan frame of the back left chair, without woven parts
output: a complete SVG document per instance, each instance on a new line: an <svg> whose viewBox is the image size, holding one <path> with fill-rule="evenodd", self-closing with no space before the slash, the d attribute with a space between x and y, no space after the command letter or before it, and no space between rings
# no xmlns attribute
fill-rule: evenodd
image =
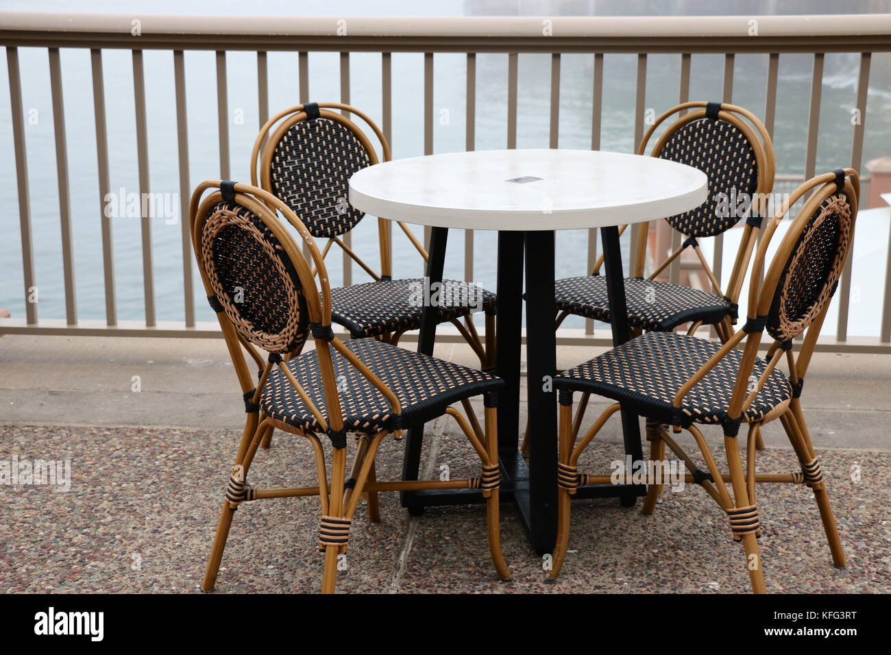
<svg viewBox="0 0 891 655"><path fill-rule="evenodd" d="M315 105L318 108L319 114L317 118L334 121L340 126L347 128L352 135L356 136L356 139L362 144L362 147L367 152L372 165L377 164L380 161L391 160L391 151L387 138L384 136L380 127L378 127L377 124L363 111L360 111L351 105L344 104L343 102L316 102ZM257 135L253 150L250 154L251 184L259 186L267 192L273 192L271 170L275 148L278 143L281 143L282 138L287 134L291 127L297 125L299 122L309 119L305 109L306 106L307 105L305 104L298 104L279 111L260 128L260 132ZM358 125L356 125L356 122L348 119L344 113L340 112L359 117L372 129L378 143L380 143L380 159L368 136L365 135ZM347 253L349 258L356 261L356 263L363 268L365 273L372 277L372 280L380 282L381 279L389 279L392 276L393 267L393 240L390 226L392 222L393 221L386 217L378 217L380 274L376 273L371 266L365 263L354 250L349 248L349 246L337 236L330 238L325 244L322 251L323 258L327 256L328 252L331 250L331 246L336 243L341 250ZM414 235L411 228L402 221L396 221L396 225L398 225L402 232L405 233L405 237L412 243L414 249L421 255L421 258L423 258L425 262L428 261L429 253L424 249L423 244ZM486 371L493 370L495 367L495 315L486 313L485 339L480 339L476 325L473 323L472 314L465 315L463 318L463 325L457 318L450 319L449 323L452 323L455 326L458 332L462 335L462 338L467 341L470 348L472 348L474 353L478 356L480 367ZM375 338L396 345L404 332L405 331L389 332Z"/></svg>

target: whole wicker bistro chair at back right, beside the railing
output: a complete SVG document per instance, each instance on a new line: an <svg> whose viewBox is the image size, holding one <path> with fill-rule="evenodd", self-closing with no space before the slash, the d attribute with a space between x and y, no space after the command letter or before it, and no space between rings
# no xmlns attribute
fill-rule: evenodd
<svg viewBox="0 0 891 655"><path fill-rule="evenodd" d="M650 155L701 169L708 176L709 196L698 208L666 218L668 225L685 239L647 278L643 277L646 225L640 230L635 244L635 270L633 276L625 280L628 323L635 332L670 332L682 323L691 323L690 334L700 325L715 325L718 336L726 341L736 321L736 301L761 226L765 194L773 188L773 147L764 125L750 111L720 102L684 102L658 117L643 135L637 154L646 151L656 129L679 111L689 112L666 128ZM748 217L725 294L697 240L723 233L739 222L740 214L729 207L728 201L741 198L742 194L748 194L755 202L743 207L748 209ZM722 203L727 205L727 216L722 216ZM625 227L621 227L621 232ZM712 292L656 280L687 248L692 248L699 257ZM609 323L606 280L600 274L602 262L601 255L591 275L555 283L558 327L568 315Z"/></svg>

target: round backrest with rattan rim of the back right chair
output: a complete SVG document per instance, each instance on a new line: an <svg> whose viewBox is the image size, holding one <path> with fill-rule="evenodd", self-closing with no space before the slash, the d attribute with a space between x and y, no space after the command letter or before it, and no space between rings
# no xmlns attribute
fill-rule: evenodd
<svg viewBox="0 0 891 655"><path fill-rule="evenodd" d="M773 186L770 138L753 114L734 105L678 105L650 127L642 147L658 124L675 111L703 105L704 108L690 111L669 125L651 152L654 157L699 168L708 177L705 202L683 214L666 217L669 225L688 237L715 236L729 230L744 216L749 203L760 197L758 194L770 192Z"/></svg>

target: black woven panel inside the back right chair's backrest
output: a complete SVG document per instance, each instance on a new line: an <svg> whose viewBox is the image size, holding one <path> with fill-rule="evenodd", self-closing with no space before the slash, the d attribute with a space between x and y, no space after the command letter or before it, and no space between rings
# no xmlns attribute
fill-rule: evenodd
<svg viewBox="0 0 891 655"><path fill-rule="evenodd" d="M668 139L658 155L699 168L708 176L708 196L696 209L667 217L669 225L688 236L715 236L736 225L740 212L719 212L718 194L731 196L756 192L758 167L751 143L739 129L725 120L699 119L681 127ZM723 209L723 208L721 208ZM726 216L719 216L726 213Z"/></svg>

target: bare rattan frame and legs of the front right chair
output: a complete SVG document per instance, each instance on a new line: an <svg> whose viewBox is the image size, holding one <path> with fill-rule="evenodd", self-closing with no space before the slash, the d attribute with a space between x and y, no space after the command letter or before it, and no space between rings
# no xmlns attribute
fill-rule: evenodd
<svg viewBox="0 0 891 655"><path fill-rule="evenodd" d="M842 185L843 181L843 185ZM802 209L797 217L789 225L789 230L784 236L779 248L772 258L771 265L764 273L764 263L766 253L773 234L783 217L789 213L789 209L800 199L807 197ZM776 298L778 289L785 293L788 289L790 276L785 282L781 280L782 275L787 267L790 257L796 250L799 237L804 232L815 213L821 209L822 203L827 201L831 196L841 194L844 196L846 207L850 210L849 225L847 227L846 236L839 237L845 239L844 246L838 246L841 256L834 259L834 267L827 275L824 282L819 299L813 303L813 307L809 307L804 318L794 324L789 330L781 334L782 340L774 339L772 345L767 350L767 365L764 372L758 377L754 388L751 386L750 377L756 361L758 349L762 341L762 332L764 331L764 322L766 317L771 315L772 303ZM860 182L856 171L853 168L845 168L833 173L815 176L805 182L793 192L787 201L785 201L780 209L777 209L764 229L764 234L756 251L755 261L751 272L748 292L748 320L746 325L739 331L732 334L731 338L723 344L714 356L712 356L706 364L703 364L699 371L677 391L674 397L674 407L680 409L685 397L696 384L701 381L716 364L721 362L732 350L741 347L742 354L739 366L739 373L733 387L730 407L727 411L728 419L722 423L724 433L724 449L727 455L728 471L719 471L715 464L707 445L706 439L702 436L696 423L689 425L666 425L656 420L648 418L646 433L647 439L650 441L650 461L662 462L666 460L666 446L670 449L685 465L692 474L687 475L685 481L688 483L696 483L703 487L708 495L727 512L734 540L741 541L746 552L746 561L748 574L753 591L756 593L764 593L766 587L764 585L764 572L762 568L761 556L758 551L757 537L760 536L761 528L758 520L756 507L756 484L765 482L781 482L792 484L806 484L811 487L816 498L819 508L823 528L825 530L827 540L830 546L833 564L839 569L846 566L845 553L842 547L841 538L838 535L838 528L830 506L830 499L826 488L826 482L822 477L822 469L813 448L813 443L805 423L805 416L800 403L800 393L805 373L813 356L813 348L819 337L823 320L826 317L830 305L830 299L838 283L838 276L843 270L847 258L851 255L850 243L851 236L854 231L854 223L857 215L857 206L860 197ZM804 248L804 246L802 247ZM762 274L764 277L762 279ZM834 278L834 279L833 279ZM781 286L783 284L783 286ZM831 291L830 291L831 285ZM803 334L803 339L794 340ZM798 354L794 355L797 348ZM746 463L743 465L740 455L740 444L738 443L737 430L739 430L740 422L744 422L745 410L755 400L758 392L764 387L768 376L777 368L781 362L785 360L788 366L787 378L793 389L792 396L788 401L781 403L764 416L763 419L750 422L748 428L747 443L745 446ZM555 381L559 386L559 382ZM583 395L582 405L587 403L587 394ZM617 410L620 409L619 403L609 405L609 407L601 413L599 418L593 423L593 426L586 431L581 441L577 441L580 431L580 416L573 416L573 400L572 391L564 390L560 394L560 433L559 433L559 519L558 519L558 536L557 545L553 555L553 567L549 575L550 578L556 578L560 575L560 569L566 560L569 542L570 527L570 499L576 493L576 488L580 485L588 484L605 484L610 482L609 475L588 475L580 473L577 470L577 462L579 455L593 441L603 425L609 420ZM756 443L760 435L761 426L765 422L779 419L783 429L786 431L789 441L797 455L798 463L801 471L793 471L781 474L756 473ZM678 445L669 433L678 433L682 430L688 430L699 446L699 451L706 463L706 471L701 471L691 455L687 454L684 449ZM577 443L576 443L577 441ZM648 467L648 471L650 468ZM727 484L730 484L730 490ZM646 484L647 496L643 504L642 512L650 514L653 512L659 495L662 493L662 485L657 479L649 476Z"/></svg>

